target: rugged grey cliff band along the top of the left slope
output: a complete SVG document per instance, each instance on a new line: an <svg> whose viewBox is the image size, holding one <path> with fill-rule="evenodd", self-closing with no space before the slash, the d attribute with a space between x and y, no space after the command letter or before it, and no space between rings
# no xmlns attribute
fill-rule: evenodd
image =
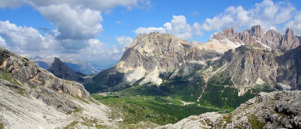
<svg viewBox="0 0 301 129"><path fill-rule="evenodd" d="M54 106L63 112L72 112L78 106L70 99L65 99L69 94L90 98L90 93L83 85L75 81L68 81L54 76L52 73L37 66L35 62L21 57L3 47L0 47L0 69L7 71L12 76L12 82L2 80L2 83L10 87L25 88L24 92L29 96L41 99L48 105ZM3 76L2 74L2 76ZM43 95L46 93L50 95Z"/></svg>

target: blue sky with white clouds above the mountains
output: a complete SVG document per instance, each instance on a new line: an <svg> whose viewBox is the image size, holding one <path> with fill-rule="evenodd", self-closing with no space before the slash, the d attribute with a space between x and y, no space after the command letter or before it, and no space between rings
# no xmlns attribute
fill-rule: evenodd
<svg viewBox="0 0 301 129"><path fill-rule="evenodd" d="M119 60L139 33L207 42L256 24L301 34L301 0L0 0L0 46L26 57Z"/></svg>

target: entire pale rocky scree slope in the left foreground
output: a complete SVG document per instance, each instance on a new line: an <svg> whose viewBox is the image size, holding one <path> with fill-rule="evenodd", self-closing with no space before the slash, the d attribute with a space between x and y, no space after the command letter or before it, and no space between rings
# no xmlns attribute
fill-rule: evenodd
<svg viewBox="0 0 301 129"><path fill-rule="evenodd" d="M0 47L0 123L4 128L63 128L70 123L82 128L90 124L84 125L87 120L114 128L114 121L108 122L108 110L82 84L58 78Z"/></svg>

